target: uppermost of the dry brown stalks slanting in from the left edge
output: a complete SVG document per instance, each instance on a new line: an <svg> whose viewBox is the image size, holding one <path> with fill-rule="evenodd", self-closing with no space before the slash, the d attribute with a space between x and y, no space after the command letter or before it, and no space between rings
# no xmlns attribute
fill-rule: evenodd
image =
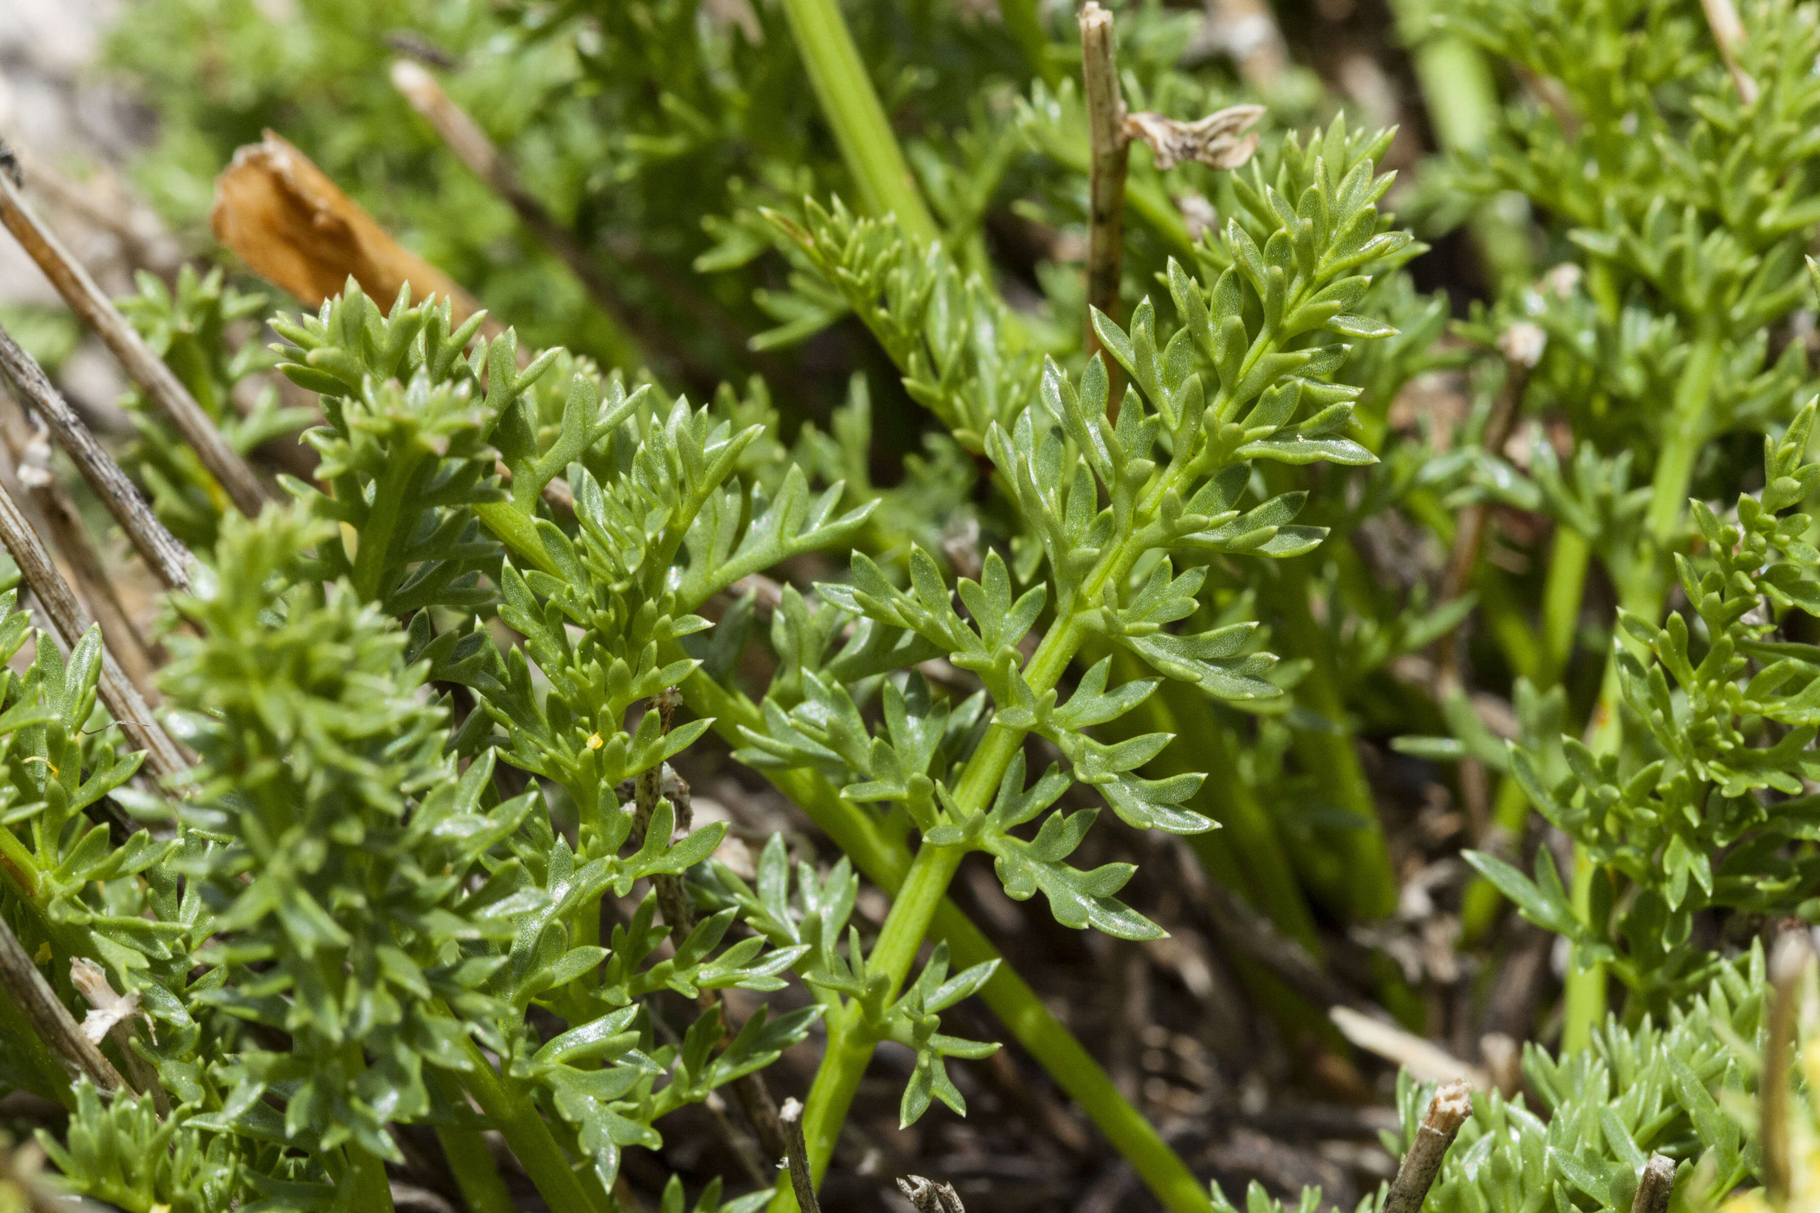
<svg viewBox="0 0 1820 1213"><path fill-rule="evenodd" d="M209 475L220 482L235 507L249 518L255 516L266 504L266 489L258 476L240 458L240 453L228 446L222 431L215 427L215 422L202 411L177 373L164 366L164 358L151 353L138 331L95 286L95 278L51 235L51 229L33 215L18 187L4 175L0 175L0 222L5 222L7 231L38 264L69 309L102 338L127 376L184 436L184 442L197 453Z"/></svg>

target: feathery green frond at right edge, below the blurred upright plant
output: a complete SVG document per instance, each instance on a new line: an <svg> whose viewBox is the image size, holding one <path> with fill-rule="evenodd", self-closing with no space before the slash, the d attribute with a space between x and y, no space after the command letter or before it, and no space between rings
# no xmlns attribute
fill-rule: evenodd
<svg viewBox="0 0 1820 1213"><path fill-rule="evenodd" d="M1689 615L1658 627L1622 615L1647 653L1618 651L1625 704L1647 729L1636 769L1572 737L1545 753L1516 749L1511 769L1531 802L1594 864L1589 909L1572 906L1547 849L1536 880L1491 855L1467 858L1523 917L1571 938L1582 964L1605 964L1631 991L1634 1022L1707 980L1716 962L1687 946L1693 915L1724 906L1754 915L1809 909L1815 831L1811 646L1780 640L1778 618L1820 607L1807 540L1815 407L1764 440L1764 489L1722 520L1693 502L1707 556L1676 556ZM1673 680L1673 682L1671 682ZM1795 844L1791 847L1791 844Z"/></svg>

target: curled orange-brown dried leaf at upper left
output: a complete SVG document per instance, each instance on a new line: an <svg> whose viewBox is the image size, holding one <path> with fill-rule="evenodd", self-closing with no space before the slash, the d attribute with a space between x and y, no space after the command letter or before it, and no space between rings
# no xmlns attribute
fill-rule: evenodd
<svg viewBox="0 0 1820 1213"><path fill-rule="evenodd" d="M271 131L237 151L215 178L209 224L253 273L308 307L340 295L353 278L380 307L410 284L411 298L448 298L455 324L480 311L453 278L406 253L309 156Z"/></svg>

